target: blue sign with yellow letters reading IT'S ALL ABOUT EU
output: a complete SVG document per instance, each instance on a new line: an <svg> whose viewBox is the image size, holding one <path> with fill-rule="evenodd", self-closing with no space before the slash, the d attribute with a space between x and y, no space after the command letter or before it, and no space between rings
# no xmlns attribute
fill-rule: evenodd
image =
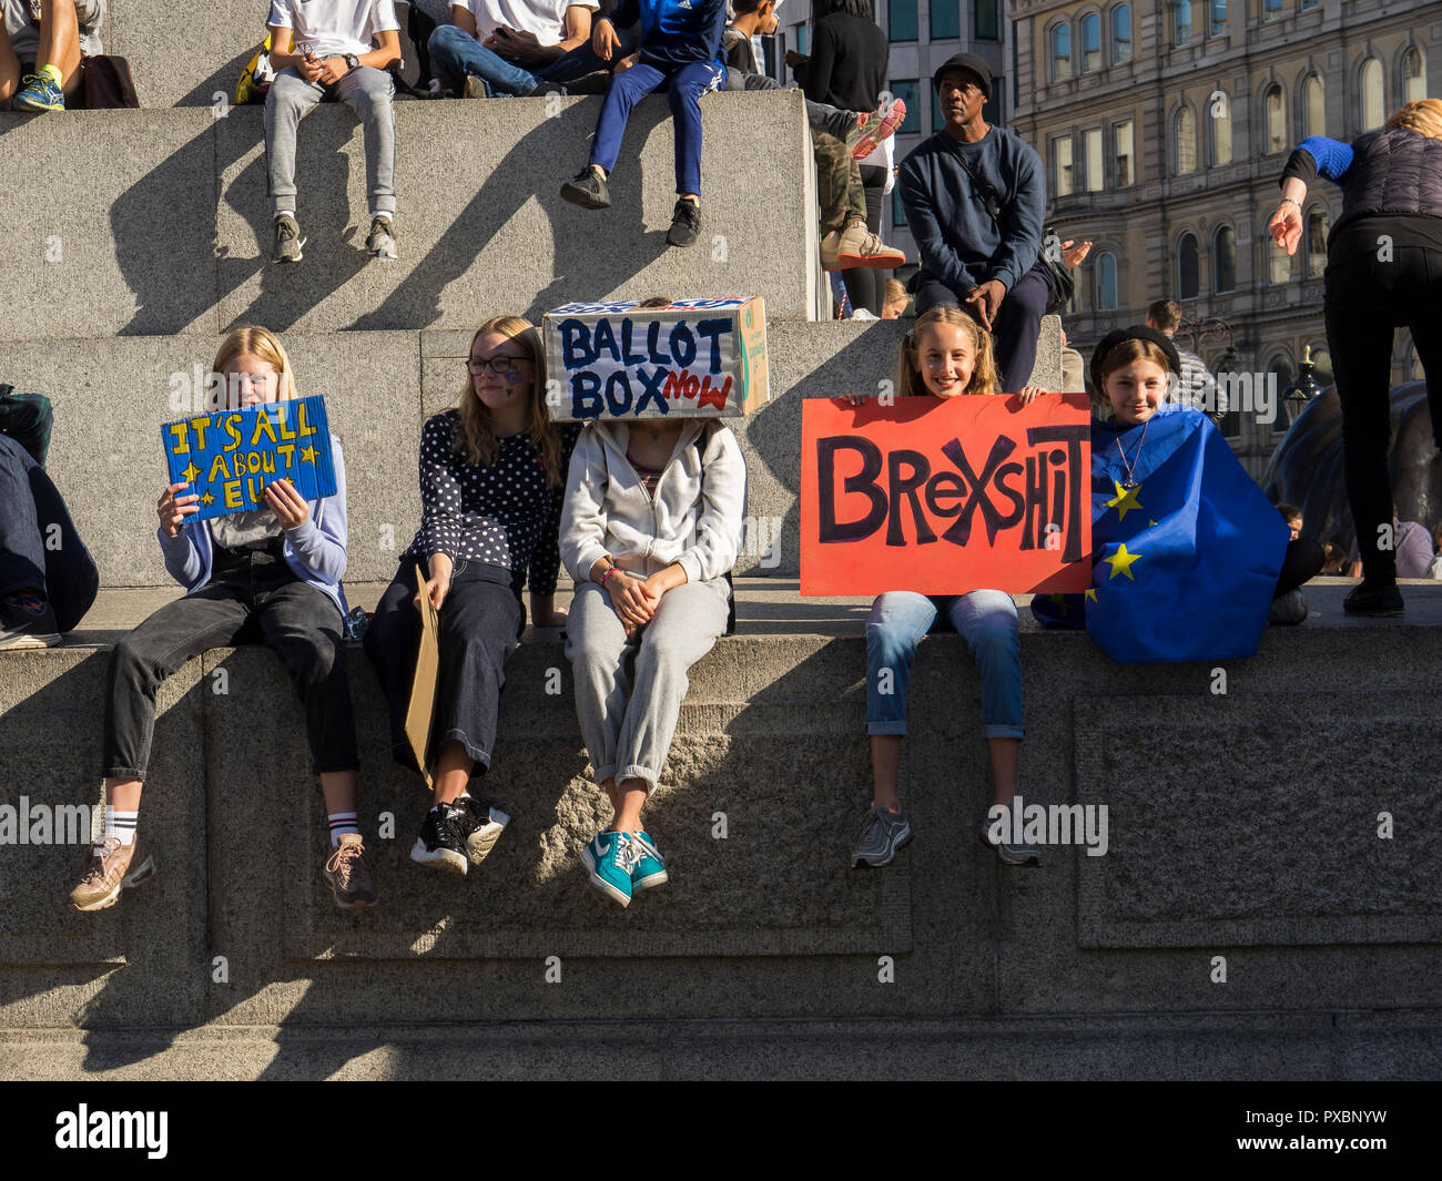
<svg viewBox="0 0 1442 1181"><path fill-rule="evenodd" d="M322 397L222 410L160 428L170 483L200 497L187 519L264 509L265 486L287 479L306 500L336 495L330 425Z"/></svg>

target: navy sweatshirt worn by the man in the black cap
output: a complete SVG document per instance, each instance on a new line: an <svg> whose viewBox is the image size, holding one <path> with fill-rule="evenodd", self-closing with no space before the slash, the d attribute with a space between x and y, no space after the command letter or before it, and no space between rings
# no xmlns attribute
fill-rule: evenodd
<svg viewBox="0 0 1442 1181"><path fill-rule="evenodd" d="M999 226L947 141L996 190ZM1041 157L1005 127L989 127L975 144L937 131L901 162L897 187L921 267L957 297L992 278L1009 291L1035 264L1047 206Z"/></svg>

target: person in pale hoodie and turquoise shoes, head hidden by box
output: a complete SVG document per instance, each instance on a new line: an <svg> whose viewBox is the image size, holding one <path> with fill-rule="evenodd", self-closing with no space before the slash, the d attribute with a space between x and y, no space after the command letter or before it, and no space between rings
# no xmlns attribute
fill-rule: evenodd
<svg viewBox="0 0 1442 1181"><path fill-rule="evenodd" d="M725 632L746 513L746 461L717 420L591 423L571 456L561 561L575 580L565 653L575 712L613 818L585 846L622 906L666 881L640 812L685 699L686 671ZM624 658L634 655L627 676Z"/></svg>

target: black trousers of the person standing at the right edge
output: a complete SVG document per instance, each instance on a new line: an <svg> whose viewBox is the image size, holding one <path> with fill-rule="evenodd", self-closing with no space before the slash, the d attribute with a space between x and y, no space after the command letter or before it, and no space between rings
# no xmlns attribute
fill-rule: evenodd
<svg viewBox="0 0 1442 1181"><path fill-rule="evenodd" d="M1397 554L1380 549L1379 526L1392 525L1392 343L1406 324L1428 378L1432 431L1442 447L1442 251L1397 247L1386 262L1367 252L1325 277L1327 345L1343 410L1347 499L1367 578L1397 577Z"/></svg>

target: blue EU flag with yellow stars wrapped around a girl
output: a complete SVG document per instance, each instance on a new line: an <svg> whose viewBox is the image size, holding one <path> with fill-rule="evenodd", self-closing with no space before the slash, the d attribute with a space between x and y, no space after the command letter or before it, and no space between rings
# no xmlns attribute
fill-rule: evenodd
<svg viewBox="0 0 1442 1181"><path fill-rule="evenodd" d="M1289 539L1200 411L1168 405L1139 427L1093 423L1092 588L1038 596L1032 611L1043 623L1084 616L1118 663L1253 656Z"/></svg>

